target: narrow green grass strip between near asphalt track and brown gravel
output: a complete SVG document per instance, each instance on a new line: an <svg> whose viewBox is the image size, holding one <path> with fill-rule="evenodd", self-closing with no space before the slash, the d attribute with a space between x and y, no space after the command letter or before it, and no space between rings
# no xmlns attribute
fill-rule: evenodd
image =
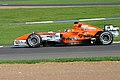
<svg viewBox="0 0 120 80"><path fill-rule="evenodd" d="M36 64L41 62L96 62L96 61L120 61L120 57L60 58L41 60L0 60L0 64Z"/></svg>

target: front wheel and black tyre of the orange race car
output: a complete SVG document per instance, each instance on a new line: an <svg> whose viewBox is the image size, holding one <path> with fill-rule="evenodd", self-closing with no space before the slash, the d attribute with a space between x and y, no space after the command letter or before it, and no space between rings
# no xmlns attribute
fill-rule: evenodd
<svg viewBox="0 0 120 80"><path fill-rule="evenodd" d="M35 33L29 35L29 37L27 38L27 44L29 47L32 47L32 48L40 47L41 42L42 42L42 38Z"/></svg>

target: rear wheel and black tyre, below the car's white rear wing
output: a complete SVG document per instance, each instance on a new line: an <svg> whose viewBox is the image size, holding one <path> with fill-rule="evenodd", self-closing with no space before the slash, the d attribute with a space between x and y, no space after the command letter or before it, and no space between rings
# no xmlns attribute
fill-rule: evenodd
<svg viewBox="0 0 120 80"><path fill-rule="evenodd" d="M101 45L110 45L113 42L113 34L108 31L101 32L97 43Z"/></svg>

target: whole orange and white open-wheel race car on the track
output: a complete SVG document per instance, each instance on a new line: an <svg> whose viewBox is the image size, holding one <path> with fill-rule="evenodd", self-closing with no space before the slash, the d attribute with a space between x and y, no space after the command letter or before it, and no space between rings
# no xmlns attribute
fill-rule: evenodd
<svg viewBox="0 0 120 80"><path fill-rule="evenodd" d="M55 46L57 44L77 45L77 44L102 44L110 45L113 37L119 35L119 28L113 25L105 25L104 30L91 26L74 22L74 29L65 29L64 32L33 32L23 35L14 40L14 46L40 47Z"/></svg>

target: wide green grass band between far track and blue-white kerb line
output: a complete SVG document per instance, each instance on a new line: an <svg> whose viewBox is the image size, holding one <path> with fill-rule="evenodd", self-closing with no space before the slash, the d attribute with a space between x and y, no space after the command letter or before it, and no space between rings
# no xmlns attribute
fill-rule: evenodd
<svg viewBox="0 0 120 80"><path fill-rule="evenodd" d="M120 6L0 9L0 22L25 22L81 19L95 17L120 17Z"/></svg>

